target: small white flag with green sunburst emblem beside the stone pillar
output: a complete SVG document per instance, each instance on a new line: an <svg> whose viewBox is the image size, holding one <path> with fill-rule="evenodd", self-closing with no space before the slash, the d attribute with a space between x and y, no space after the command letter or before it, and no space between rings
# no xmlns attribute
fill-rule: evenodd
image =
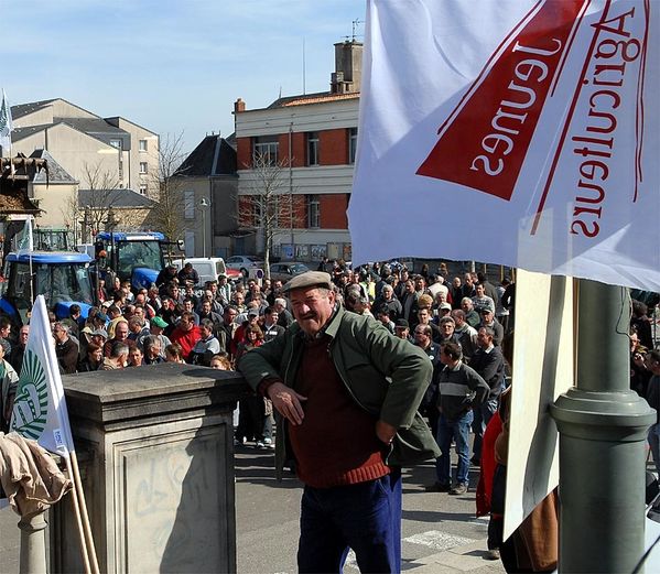
<svg viewBox="0 0 660 574"><path fill-rule="evenodd" d="M12 431L37 441L52 453L68 456L74 441L51 325L43 295L32 307L30 336L11 419Z"/></svg>

